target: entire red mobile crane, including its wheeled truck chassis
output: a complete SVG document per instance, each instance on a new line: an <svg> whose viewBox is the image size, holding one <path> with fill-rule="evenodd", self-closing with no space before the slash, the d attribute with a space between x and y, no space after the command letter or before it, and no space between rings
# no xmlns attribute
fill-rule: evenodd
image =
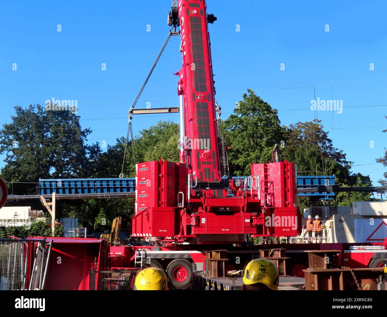
<svg viewBox="0 0 387 317"><path fill-rule="evenodd" d="M218 138L220 108L214 98L208 33L208 24L214 21L216 17L207 14L205 0L173 1L168 24L174 29L170 36L181 36L183 66L176 73L180 109L159 108L153 113L180 112L180 163L159 160L136 164L132 235L151 243L131 245L131 241L130 245L110 247L111 269L161 267L178 289L190 286L193 272L206 271L205 250L216 250L223 244L230 258L228 269L241 269L246 261L259 257L260 250L284 247L241 246L247 234L295 236L301 231L295 164L279 162L276 155L275 163L253 163L247 180L228 175L224 142ZM179 26L181 33L176 32ZM136 113L132 110L133 106L130 115ZM148 112L140 109L137 113ZM292 275L302 276L302 269L308 267L304 251L317 249L343 250L339 259L351 267L380 266L387 252L385 243L379 248L370 243L366 243L368 247L354 243L287 244L287 265ZM231 259L239 259L239 264Z"/></svg>

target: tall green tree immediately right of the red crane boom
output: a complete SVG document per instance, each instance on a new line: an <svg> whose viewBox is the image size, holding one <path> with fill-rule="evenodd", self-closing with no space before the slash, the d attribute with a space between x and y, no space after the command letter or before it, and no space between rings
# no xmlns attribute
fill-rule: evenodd
<svg viewBox="0 0 387 317"><path fill-rule="evenodd" d="M275 144L283 140L283 129L277 110L247 89L243 101L236 105L234 113L223 122L224 137L230 148L230 171L235 176L250 175L253 162L271 161Z"/></svg>

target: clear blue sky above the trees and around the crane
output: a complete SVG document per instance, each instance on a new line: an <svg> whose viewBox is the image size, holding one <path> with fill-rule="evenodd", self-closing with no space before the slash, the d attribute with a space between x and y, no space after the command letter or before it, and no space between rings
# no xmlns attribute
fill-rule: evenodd
<svg viewBox="0 0 387 317"><path fill-rule="evenodd" d="M344 108L340 115L318 113L334 146L343 149L354 165L375 163L384 154L385 1L208 0L207 5L218 18L209 29L216 98L223 119L251 88L279 110L282 124L313 120L315 113L309 109L313 87L304 86L315 86L316 97L341 99L344 107L384 105ZM76 99L82 127L93 130L90 141L114 144L117 137L126 135L127 111L166 39L169 9L169 0L3 0L0 123L10 122L15 105ZM57 32L58 24L61 32ZM148 24L151 32L147 32ZM240 32L236 32L237 24ZM326 24L329 32L325 32ZM152 107L178 105L173 73L182 65L179 46L178 38L172 38L138 107L147 102ZM101 70L102 63L106 71ZM304 88L281 89L288 87ZM101 118L115 119L94 120ZM178 122L177 116L168 118ZM159 119L136 117L134 132ZM370 164L352 170L370 175L377 185L385 168Z"/></svg>

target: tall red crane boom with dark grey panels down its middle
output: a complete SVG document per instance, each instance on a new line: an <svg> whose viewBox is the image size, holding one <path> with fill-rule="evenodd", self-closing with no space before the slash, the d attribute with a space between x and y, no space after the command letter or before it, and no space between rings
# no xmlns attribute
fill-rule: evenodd
<svg viewBox="0 0 387 317"><path fill-rule="evenodd" d="M178 1L183 67L178 94L184 98L184 157L197 182L221 182L215 88L205 0ZM213 17L213 15L212 15Z"/></svg>

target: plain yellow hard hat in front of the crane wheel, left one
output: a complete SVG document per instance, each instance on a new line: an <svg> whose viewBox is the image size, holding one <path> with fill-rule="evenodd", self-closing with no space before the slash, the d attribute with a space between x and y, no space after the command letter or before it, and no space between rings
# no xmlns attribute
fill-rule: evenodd
<svg viewBox="0 0 387 317"><path fill-rule="evenodd" d="M137 274L134 289L139 291L169 290L167 275L163 269L158 267L146 267Z"/></svg>

